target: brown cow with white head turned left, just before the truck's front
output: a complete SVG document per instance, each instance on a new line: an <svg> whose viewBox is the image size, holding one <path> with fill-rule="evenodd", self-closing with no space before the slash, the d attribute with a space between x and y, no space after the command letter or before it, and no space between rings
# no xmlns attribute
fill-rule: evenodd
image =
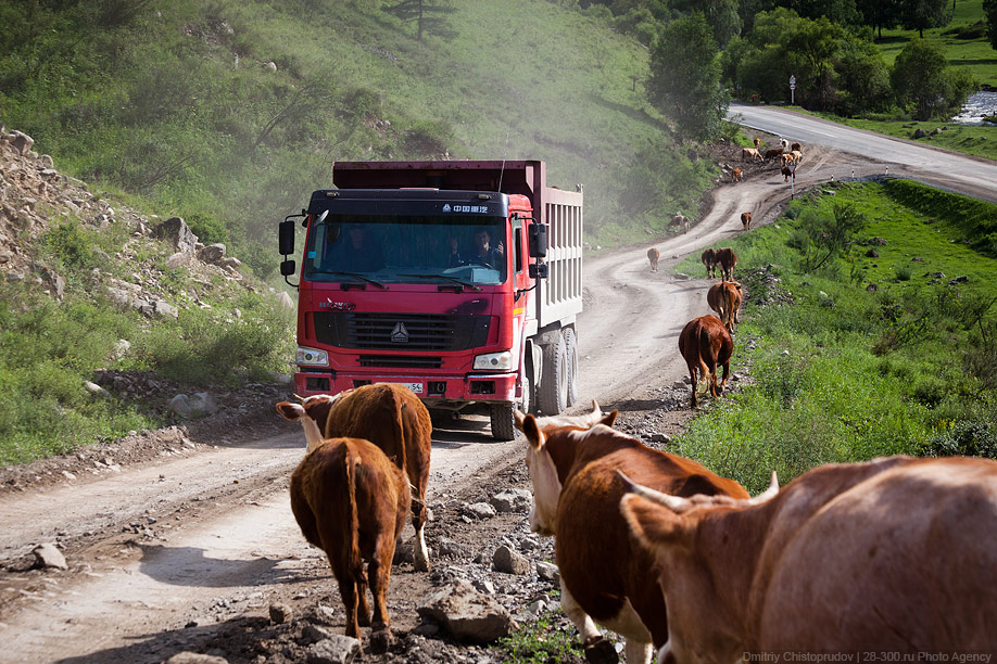
<svg viewBox="0 0 997 664"><path fill-rule="evenodd" d="M277 410L289 420L301 421L308 449L325 438L365 438L405 472L413 487L415 569L428 572L429 550L424 532L432 421L422 401L401 385L375 383L337 395L310 396L301 405L283 401Z"/></svg>

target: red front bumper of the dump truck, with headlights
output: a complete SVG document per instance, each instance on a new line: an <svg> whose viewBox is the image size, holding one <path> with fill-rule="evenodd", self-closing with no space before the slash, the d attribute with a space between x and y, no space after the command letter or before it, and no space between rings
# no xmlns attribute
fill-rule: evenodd
<svg viewBox="0 0 997 664"><path fill-rule="evenodd" d="M413 376L405 373L330 373L300 371L294 388L301 396L339 394L371 383L404 385L428 405L433 403L515 403L521 396L515 373L469 373L466 375Z"/></svg>

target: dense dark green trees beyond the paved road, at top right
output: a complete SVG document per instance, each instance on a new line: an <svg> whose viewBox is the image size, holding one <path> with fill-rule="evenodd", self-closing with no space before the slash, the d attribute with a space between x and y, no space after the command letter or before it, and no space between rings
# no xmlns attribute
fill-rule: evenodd
<svg viewBox="0 0 997 664"><path fill-rule="evenodd" d="M934 42L910 41L892 67L875 46L884 29L923 38L947 25L954 0L578 0L578 8L648 46L648 99L689 138L717 136L727 95L788 102L791 75L797 104L844 116L942 117L979 87ZM997 0L984 0L984 13L997 48Z"/></svg>

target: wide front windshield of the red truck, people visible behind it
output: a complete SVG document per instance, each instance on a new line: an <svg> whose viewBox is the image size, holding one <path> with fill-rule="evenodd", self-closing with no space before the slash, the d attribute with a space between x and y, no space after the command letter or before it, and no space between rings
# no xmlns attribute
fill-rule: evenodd
<svg viewBox="0 0 997 664"><path fill-rule="evenodd" d="M504 283L509 247L503 217L329 215L311 229L310 281Z"/></svg>

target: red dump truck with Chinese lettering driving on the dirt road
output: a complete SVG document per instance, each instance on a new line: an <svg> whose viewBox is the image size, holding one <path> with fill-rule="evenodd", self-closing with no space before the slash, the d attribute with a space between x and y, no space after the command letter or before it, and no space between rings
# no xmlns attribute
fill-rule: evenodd
<svg viewBox="0 0 997 664"><path fill-rule="evenodd" d="M339 162L280 224L300 395L399 383L429 408L553 414L578 392L582 194L540 161ZM288 281L290 283L290 281ZM295 284L291 284L295 285Z"/></svg>

